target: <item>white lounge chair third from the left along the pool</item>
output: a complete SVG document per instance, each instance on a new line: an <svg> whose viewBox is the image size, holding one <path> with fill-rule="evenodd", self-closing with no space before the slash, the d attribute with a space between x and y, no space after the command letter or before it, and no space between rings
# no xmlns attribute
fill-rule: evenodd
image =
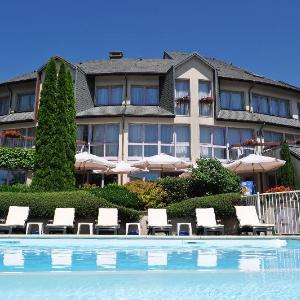
<svg viewBox="0 0 300 300"><path fill-rule="evenodd" d="M98 220L96 222L96 234L99 234L100 231L113 231L114 234L118 234L118 229L120 228L118 209L99 208Z"/></svg>

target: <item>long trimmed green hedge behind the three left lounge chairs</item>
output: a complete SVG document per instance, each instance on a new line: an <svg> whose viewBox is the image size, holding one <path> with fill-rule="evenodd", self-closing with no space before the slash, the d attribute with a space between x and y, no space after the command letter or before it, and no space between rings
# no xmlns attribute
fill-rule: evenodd
<svg viewBox="0 0 300 300"><path fill-rule="evenodd" d="M116 207L122 222L139 220L139 212L114 205L98 198L87 191L73 192L34 192L34 193L0 193L0 215L6 217L11 205L29 206L30 218L50 218L56 207L74 207L76 218L97 218L99 207Z"/></svg>

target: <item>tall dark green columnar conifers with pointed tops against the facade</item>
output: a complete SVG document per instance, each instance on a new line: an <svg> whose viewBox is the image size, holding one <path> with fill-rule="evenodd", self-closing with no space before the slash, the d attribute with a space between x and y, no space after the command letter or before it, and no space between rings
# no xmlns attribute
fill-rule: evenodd
<svg viewBox="0 0 300 300"><path fill-rule="evenodd" d="M56 62L52 58L45 70L38 112L36 161L32 182L36 189L59 191L74 187L75 151L71 158L68 150L68 132L75 126L69 125L70 88L65 64L61 63L57 76ZM75 124L75 118L73 122Z"/></svg>

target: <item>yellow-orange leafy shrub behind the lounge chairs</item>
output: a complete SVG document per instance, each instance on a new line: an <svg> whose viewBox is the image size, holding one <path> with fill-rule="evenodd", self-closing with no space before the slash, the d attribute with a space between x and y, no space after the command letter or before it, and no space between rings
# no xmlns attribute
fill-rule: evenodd
<svg viewBox="0 0 300 300"><path fill-rule="evenodd" d="M157 182L135 180L128 182L125 186L138 196L145 208L160 208L167 204L167 193Z"/></svg>

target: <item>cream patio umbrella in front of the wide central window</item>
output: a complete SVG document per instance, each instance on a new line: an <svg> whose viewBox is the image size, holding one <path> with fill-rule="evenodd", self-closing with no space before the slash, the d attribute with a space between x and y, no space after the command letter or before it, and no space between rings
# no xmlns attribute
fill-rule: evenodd
<svg viewBox="0 0 300 300"><path fill-rule="evenodd" d="M137 168L147 168L148 170L177 171L185 169L189 164L180 158L164 153L147 157L135 162L132 166Z"/></svg>

